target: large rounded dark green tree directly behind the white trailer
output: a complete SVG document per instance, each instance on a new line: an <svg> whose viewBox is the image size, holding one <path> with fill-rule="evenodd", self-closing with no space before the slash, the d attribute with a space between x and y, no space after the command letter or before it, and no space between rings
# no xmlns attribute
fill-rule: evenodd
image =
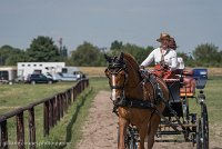
<svg viewBox="0 0 222 149"><path fill-rule="evenodd" d="M27 49L28 61L31 62L48 62L59 61L59 49L53 40L49 37L38 37L32 40L30 48Z"/></svg>

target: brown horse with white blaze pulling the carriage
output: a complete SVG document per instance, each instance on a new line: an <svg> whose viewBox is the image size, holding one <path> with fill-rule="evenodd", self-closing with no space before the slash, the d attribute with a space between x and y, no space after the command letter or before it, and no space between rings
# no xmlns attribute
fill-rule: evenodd
<svg viewBox="0 0 222 149"><path fill-rule="evenodd" d="M119 115L120 139L118 149L125 149L124 137L129 125L135 126L139 130L139 149L144 149L145 136L148 137L148 149L151 149L161 119L158 112L163 112L164 103L162 101L155 103L155 89L150 81L143 82L139 64L131 54L121 53L119 57L105 56L105 59L109 62L105 74L111 87L111 100L118 107ZM157 82L162 90L163 99L165 101L169 100L169 91L164 81L161 78L157 78ZM153 103L154 108L147 109L133 107L129 103L124 105L125 101L123 102L123 99L125 101L133 99L133 102L135 100L148 101Z"/></svg>

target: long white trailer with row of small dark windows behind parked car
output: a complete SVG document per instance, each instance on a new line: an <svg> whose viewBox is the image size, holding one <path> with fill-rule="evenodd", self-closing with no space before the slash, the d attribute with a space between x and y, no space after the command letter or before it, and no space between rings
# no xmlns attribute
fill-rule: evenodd
<svg viewBox="0 0 222 149"><path fill-rule="evenodd" d="M20 80L26 81L31 73L54 74L62 72L62 68L64 67L64 62L18 62L17 76Z"/></svg>

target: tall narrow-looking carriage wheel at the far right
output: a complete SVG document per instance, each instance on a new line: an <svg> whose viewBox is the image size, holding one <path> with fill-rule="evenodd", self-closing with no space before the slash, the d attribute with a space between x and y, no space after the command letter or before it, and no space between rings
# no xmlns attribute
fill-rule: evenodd
<svg viewBox="0 0 222 149"><path fill-rule="evenodd" d="M209 121L204 103L201 105L201 118L198 121L196 149L209 149Z"/></svg>

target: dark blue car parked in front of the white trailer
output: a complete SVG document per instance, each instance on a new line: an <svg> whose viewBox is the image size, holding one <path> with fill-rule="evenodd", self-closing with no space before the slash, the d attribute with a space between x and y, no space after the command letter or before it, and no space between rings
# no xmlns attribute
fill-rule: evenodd
<svg viewBox="0 0 222 149"><path fill-rule="evenodd" d="M36 83L53 83L54 80L51 79L51 78L46 77L44 74L34 73L34 74L28 76L27 82L31 83L31 85L36 85Z"/></svg>

